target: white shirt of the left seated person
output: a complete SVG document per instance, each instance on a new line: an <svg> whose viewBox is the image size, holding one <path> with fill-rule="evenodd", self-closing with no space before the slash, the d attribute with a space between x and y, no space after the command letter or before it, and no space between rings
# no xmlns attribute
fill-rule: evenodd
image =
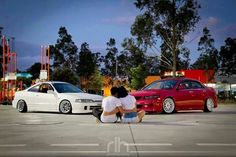
<svg viewBox="0 0 236 157"><path fill-rule="evenodd" d="M102 107L105 112L111 112L118 106L121 106L121 102L114 96L108 96L102 100ZM114 123L117 121L117 116L116 114L104 116L102 113L101 121L104 123Z"/></svg>

